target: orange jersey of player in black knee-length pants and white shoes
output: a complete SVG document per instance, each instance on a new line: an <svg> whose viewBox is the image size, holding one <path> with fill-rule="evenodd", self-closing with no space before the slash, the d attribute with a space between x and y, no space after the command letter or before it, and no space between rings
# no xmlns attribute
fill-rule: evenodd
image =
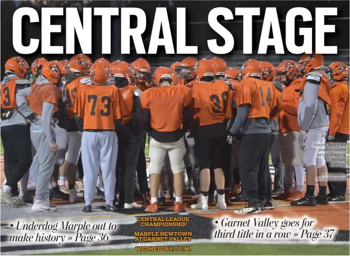
<svg viewBox="0 0 350 256"><path fill-rule="evenodd" d="M229 94L230 87L222 80L211 83L197 82L193 85L193 107L196 109L200 126L224 122L226 112L231 108L227 106L232 105L233 95L229 97Z"/></svg>

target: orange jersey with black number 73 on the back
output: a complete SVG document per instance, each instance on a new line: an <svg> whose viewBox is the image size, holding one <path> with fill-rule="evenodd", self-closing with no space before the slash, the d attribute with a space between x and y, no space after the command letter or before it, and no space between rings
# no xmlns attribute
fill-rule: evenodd
<svg viewBox="0 0 350 256"><path fill-rule="evenodd" d="M84 130L115 130L114 121L126 115L122 93L114 85L81 85L74 114L84 121Z"/></svg>

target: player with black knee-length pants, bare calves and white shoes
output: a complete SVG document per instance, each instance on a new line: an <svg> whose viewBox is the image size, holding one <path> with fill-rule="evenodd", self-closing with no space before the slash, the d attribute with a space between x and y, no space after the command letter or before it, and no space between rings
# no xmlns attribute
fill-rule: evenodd
<svg viewBox="0 0 350 256"><path fill-rule="evenodd" d="M201 60L196 69L197 82L192 87L193 107L196 111L196 123L193 127L196 156L199 162L201 196L193 209L208 209L210 186L210 169L214 170L215 184L218 193L216 207L226 209L222 170L222 155L226 135L226 112L230 111L232 97L230 87L222 81L214 81L214 66L211 60ZM230 118L230 117L229 117Z"/></svg>

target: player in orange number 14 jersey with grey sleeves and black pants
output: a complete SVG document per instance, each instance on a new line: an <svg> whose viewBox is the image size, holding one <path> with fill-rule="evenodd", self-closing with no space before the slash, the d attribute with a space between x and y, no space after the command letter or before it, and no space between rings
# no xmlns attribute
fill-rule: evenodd
<svg viewBox="0 0 350 256"><path fill-rule="evenodd" d="M239 169L248 206L235 210L236 214L251 214L273 209L270 172L268 167L270 119L276 118L277 104L273 83L261 79L262 66L252 61L242 70L243 80L237 94L237 117L232 125L228 143L237 134L244 134L239 152ZM268 187L269 186L269 187Z"/></svg>

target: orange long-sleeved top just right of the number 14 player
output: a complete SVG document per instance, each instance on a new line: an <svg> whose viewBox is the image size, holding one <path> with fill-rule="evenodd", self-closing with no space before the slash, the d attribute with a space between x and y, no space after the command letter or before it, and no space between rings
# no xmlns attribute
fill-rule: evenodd
<svg viewBox="0 0 350 256"><path fill-rule="evenodd" d="M300 93L295 90L301 89L302 79L296 79L290 85L285 86L282 92L282 109L279 114L279 132L287 133L299 131L298 124L298 104Z"/></svg>

